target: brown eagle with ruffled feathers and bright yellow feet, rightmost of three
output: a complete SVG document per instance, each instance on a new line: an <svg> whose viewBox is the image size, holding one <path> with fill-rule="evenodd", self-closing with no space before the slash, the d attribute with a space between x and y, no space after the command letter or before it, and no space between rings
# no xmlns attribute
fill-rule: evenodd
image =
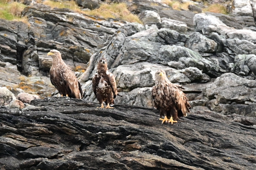
<svg viewBox="0 0 256 170"><path fill-rule="evenodd" d="M164 70L155 73L155 86L152 88L153 106L160 112L160 119L164 122L177 122L180 117L187 116L191 106L188 103L184 89L179 84L171 83ZM162 119L162 116L164 118ZM168 119L168 118L169 119Z"/></svg>

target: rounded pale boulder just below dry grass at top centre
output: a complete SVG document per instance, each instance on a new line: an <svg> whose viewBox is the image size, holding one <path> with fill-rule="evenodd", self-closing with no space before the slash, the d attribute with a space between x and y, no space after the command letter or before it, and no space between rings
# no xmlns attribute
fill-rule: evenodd
<svg viewBox="0 0 256 170"><path fill-rule="evenodd" d="M139 19L143 22L144 25L153 25L153 24L160 24L161 23L161 18L159 14L157 14L155 11L149 11L145 10L141 12L138 15Z"/></svg>

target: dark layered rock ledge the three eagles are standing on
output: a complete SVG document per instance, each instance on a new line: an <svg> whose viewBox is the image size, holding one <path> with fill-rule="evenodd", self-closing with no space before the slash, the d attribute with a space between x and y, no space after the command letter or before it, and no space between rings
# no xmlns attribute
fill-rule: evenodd
<svg viewBox="0 0 256 170"><path fill-rule="evenodd" d="M170 125L143 106L100 109L68 97L30 104L22 111L0 106L0 169L256 168L255 126L210 110Z"/></svg>

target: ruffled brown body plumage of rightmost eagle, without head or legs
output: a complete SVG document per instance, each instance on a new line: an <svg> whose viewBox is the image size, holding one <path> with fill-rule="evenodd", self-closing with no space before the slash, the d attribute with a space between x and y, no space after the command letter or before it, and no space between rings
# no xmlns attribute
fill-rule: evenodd
<svg viewBox="0 0 256 170"><path fill-rule="evenodd" d="M165 83L163 86L156 88L153 86L151 93L153 97L153 106L155 109L161 107L164 110L174 109L177 116L187 116L187 112L191 107L183 93L184 89L179 84ZM182 112L182 115L179 114Z"/></svg>

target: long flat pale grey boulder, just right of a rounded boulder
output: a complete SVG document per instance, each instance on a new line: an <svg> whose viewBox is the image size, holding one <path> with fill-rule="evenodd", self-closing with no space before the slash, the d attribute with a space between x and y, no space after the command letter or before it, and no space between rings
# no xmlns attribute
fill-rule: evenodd
<svg viewBox="0 0 256 170"><path fill-rule="evenodd" d="M185 33L187 31L187 25L185 22L171 20L166 17L161 18L161 28L167 28L170 30L175 30L179 33Z"/></svg>

